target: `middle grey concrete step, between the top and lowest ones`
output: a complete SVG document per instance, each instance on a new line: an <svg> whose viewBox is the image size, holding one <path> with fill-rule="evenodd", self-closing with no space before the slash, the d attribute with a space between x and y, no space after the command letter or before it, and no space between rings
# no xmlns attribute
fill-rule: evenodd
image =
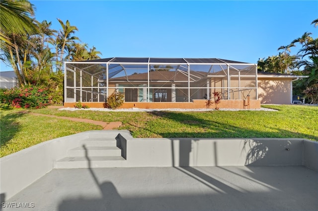
<svg viewBox="0 0 318 211"><path fill-rule="evenodd" d="M68 151L69 157L121 156L118 147L81 146Z"/></svg>

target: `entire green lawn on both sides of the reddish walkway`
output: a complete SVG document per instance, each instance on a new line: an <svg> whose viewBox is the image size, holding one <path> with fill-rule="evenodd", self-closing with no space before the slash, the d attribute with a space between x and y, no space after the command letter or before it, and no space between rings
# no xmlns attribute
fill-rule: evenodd
<svg viewBox="0 0 318 211"><path fill-rule="evenodd" d="M57 116L120 121L135 138L305 138L318 141L318 106L264 106L278 111L104 112L31 110ZM101 129L86 123L1 110L1 157L53 138Z"/></svg>

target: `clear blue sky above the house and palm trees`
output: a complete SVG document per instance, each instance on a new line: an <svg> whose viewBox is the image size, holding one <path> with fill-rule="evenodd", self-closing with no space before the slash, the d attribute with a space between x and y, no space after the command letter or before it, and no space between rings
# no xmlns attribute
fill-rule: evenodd
<svg viewBox="0 0 318 211"><path fill-rule="evenodd" d="M108 57L223 58L257 63L305 32L318 37L317 0L30 0L38 21L57 18ZM298 53L300 45L292 48ZM1 71L11 70L0 63Z"/></svg>

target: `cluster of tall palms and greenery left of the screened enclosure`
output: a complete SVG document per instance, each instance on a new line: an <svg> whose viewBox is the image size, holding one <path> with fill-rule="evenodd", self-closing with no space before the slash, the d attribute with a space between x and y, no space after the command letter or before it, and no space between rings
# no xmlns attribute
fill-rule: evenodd
<svg viewBox="0 0 318 211"><path fill-rule="evenodd" d="M87 50L68 20L58 19L58 32L51 22L32 19L34 8L27 0L1 0L0 10L0 59L13 68L20 86L46 87L52 103L62 103L63 61L95 59L101 53L95 47Z"/></svg>

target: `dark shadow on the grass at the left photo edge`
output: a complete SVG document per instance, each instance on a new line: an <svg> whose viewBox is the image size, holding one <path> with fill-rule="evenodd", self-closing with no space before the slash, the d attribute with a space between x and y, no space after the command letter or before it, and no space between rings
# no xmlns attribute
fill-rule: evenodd
<svg viewBox="0 0 318 211"><path fill-rule="evenodd" d="M1 110L0 121L0 145L4 146L14 135L20 131L20 123L17 121L20 117L27 114L28 111L17 111L4 114L5 110Z"/></svg>

